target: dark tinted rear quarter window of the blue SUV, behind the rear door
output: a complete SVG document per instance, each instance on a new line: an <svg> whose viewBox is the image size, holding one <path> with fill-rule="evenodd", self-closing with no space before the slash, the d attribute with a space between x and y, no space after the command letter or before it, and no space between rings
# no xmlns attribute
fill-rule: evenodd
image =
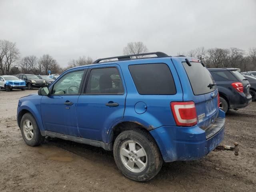
<svg viewBox="0 0 256 192"><path fill-rule="evenodd" d="M176 94L172 73L166 64L130 65L129 70L139 94Z"/></svg>

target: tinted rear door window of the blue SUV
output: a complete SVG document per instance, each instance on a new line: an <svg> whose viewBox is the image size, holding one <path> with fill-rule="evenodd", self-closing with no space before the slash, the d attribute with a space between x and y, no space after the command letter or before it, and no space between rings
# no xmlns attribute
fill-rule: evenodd
<svg viewBox="0 0 256 192"><path fill-rule="evenodd" d="M86 94L123 94L124 88L117 68L92 69Z"/></svg>

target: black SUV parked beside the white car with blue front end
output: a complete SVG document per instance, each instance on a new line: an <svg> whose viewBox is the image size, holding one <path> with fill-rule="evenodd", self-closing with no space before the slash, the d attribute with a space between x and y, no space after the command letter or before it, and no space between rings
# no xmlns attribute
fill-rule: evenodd
<svg viewBox="0 0 256 192"><path fill-rule="evenodd" d="M43 79L40 79L36 75L32 74L18 74L16 75L21 80L24 80L26 82L26 87L31 90L33 88L40 88L46 86L46 81Z"/></svg>

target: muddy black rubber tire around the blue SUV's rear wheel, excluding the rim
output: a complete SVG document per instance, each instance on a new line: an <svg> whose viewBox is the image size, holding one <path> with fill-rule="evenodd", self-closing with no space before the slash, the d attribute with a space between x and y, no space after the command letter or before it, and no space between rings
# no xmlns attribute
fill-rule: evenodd
<svg viewBox="0 0 256 192"><path fill-rule="evenodd" d="M122 162L120 150L121 146L127 141L134 141L143 147L146 152L146 166L141 172L132 172ZM114 142L114 159L118 169L124 176L139 182L145 182L152 179L160 171L163 159L154 139L150 134L143 130L126 130L121 132ZM136 152L134 152L136 154ZM136 157L135 157L136 158ZM127 158L129 160L129 158ZM135 159L136 160L136 159ZM134 165L136 163L134 162ZM135 165L136 166L136 165Z"/></svg>

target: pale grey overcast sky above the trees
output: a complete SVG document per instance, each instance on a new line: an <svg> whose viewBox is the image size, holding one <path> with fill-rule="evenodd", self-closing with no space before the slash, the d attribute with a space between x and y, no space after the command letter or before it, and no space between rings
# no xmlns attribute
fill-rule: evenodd
<svg viewBox="0 0 256 192"><path fill-rule="evenodd" d="M122 55L128 42L170 55L205 48L256 47L256 0L0 0L0 39L21 56Z"/></svg>

